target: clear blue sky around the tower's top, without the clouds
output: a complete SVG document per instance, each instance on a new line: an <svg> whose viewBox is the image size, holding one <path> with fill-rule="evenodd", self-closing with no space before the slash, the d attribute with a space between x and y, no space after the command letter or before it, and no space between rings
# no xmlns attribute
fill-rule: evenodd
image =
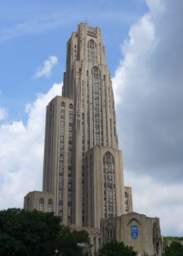
<svg viewBox="0 0 183 256"><path fill-rule="evenodd" d="M50 84L61 83L66 42L77 24L87 17L88 24L101 27L105 45L110 49L107 57L113 75L121 58L119 45L128 35L130 25L145 10L144 1L98 1L97 7L87 1L1 3L1 104L11 108L10 117L17 120L19 115L26 121L22 111L26 103L32 102L36 93L46 93ZM52 76L33 79L36 68L49 56L59 60Z"/></svg>

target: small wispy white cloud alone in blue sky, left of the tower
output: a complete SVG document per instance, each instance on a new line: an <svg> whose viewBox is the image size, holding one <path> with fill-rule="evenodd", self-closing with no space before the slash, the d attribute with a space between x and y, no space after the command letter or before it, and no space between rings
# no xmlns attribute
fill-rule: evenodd
<svg viewBox="0 0 183 256"><path fill-rule="evenodd" d="M39 78L41 76L50 77L52 73L52 68L58 64L58 58L56 56L50 56L49 60L44 61L44 67L38 67L34 78Z"/></svg>

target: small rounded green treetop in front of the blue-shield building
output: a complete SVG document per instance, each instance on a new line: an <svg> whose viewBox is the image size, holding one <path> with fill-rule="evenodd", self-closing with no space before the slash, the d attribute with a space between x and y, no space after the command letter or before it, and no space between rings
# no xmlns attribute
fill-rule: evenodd
<svg viewBox="0 0 183 256"><path fill-rule="evenodd" d="M133 247L124 245L122 242L110 241L103 244L99 249L98 256L136 256L137 252L133 251Z"/></svg>

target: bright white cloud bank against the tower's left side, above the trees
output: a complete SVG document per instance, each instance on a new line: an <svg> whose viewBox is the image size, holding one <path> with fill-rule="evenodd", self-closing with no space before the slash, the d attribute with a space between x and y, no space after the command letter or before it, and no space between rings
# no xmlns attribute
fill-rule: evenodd
<svg viewBox="0 0 183 256"><path fill-rule="evenodd" d="M0 126L1 209L23 207L29 191L41 190L45 110L52 98L61 95L61 86L54 84L47 94L27 104L27 126L22 122Z"/></svg>

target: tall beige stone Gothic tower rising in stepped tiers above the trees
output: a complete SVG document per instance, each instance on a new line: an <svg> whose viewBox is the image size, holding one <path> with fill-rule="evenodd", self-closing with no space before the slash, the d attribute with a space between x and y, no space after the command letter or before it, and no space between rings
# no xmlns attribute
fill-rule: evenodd
<svg viewBox="0 0 183 256"><path fill-rule="evenodd" d="M27 194L24 208L52 209L64 225L99 228L101 218L132 211L129 191L101 29L80 23L67 43L62 97L47 106L43 191Z"/></svg>

